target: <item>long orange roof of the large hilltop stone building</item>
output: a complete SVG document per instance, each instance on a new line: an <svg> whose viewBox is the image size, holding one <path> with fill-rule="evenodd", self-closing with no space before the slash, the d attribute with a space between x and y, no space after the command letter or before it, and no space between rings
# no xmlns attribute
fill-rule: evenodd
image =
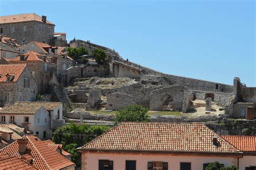
<svg viewBox="0 0 256 170"><path fill-rule="evenodd" d="M28 21L37 21L42 22L42 17L36 15L35 13L23 13L18 15L9 15L9 16L1 16L0 24L6 23L19 23L19 22L28 22ZM47 24L54 25L53 23L46 21Z"/></svg>

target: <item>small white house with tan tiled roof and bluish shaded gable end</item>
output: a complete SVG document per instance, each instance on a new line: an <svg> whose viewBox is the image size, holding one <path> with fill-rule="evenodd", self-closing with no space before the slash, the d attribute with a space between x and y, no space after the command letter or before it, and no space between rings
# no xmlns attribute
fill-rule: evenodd
<svg viewBox="0 0 256 170"><path fill-rule="evenodd" d="M14 123L37 134L41 139L51 138L50 114L40 105L5 105L0 111L0 122Z"/></svg>

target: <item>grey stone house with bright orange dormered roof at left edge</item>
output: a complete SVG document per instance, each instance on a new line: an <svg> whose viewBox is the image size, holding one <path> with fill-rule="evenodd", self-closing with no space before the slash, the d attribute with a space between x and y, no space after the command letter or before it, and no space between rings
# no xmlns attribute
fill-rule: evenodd
<svg viewBox="0 0 256 170"><path fill-rule="evenodd" d="M0 105L35 101L37 83L26 65L0 65Z"/></svg>

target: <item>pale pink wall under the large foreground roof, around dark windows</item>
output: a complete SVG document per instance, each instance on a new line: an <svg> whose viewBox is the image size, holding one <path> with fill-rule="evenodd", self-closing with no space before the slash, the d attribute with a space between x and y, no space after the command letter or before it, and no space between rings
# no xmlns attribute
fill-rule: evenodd
<svg viewBox="0 0 256 170"><path fill-rule="evenodd" d="M224 166L237 166L237 158L233 157L83 153L82 169L98 170L98 160L112 160L114 170L125 169L125 160L136 160L136 169L139 170L147 169L147 162L150 161L168 162L169 170L179 170L180 162L191 162L191 170L203 170L203 164L214 161Z"/></svg>

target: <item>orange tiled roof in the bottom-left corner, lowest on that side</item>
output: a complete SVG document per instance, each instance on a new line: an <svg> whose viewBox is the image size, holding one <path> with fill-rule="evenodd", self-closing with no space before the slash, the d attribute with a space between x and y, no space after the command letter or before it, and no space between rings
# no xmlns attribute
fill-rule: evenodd
<svg viewBox="0 0 256 170"><path fill-rule="evenodd" d="M36 169L29 163L17 157L6 157L0 159L0 167L1 169Z"/></svg>

